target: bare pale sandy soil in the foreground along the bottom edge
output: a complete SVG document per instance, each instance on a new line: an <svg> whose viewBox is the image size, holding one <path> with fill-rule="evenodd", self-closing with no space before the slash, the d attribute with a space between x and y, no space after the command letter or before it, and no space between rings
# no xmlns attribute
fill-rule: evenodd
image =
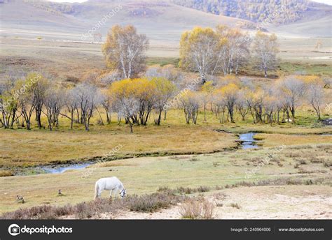
<svg viewBox="0 0 332 240"><path fill-rule="evenodd" d="M225 197L216 197L223 193ZM329 186L263 186L219 190L206 195L217 219L332 219ZM219 200L217 199L219 198ZM240 209L231 207L238 204ZM125 211L100 219L181 219L180 204L155 213Z"/></svg>

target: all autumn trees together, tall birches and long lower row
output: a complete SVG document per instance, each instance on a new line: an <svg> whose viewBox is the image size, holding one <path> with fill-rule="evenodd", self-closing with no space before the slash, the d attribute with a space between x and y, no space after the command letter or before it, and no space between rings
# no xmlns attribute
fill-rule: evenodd
<svg viewBox="0 0 332 240"><path fill-rule="evenodd" d="M40 73L9 76L0 89L1 126L13 128L18 123L29 130L34 118L38 128L44 128L43 115L50 130L59 126L59 117L69 119L70 128L81 124L89 130L93 116L104 124L102 114L106 115L106 123L111 123L111 114L116 113L117 121L123 119L132 130L132 125L146 125L152 113L157 116L155 124L160 125L162 114L166 119L169 108L182 109L186 123L197 123L202 109L204 121L207 111L221 123L235 122L238 112L243 120L249 114L254 123L272 124L285 119L295 121L296 109L305 101L321 118L324 83L319 77L289 76L275 84L258 84L232 75L247 64L252 52L267 76L268 69L277 62L274 34L258 31L251 40L248 33L226 26L195 27L184 32L180 67L199 73L199 81L180 70L146 70L147 47L146 36L131 25L112 27L102 47L111 69L102 77L104 87L93 81L61 87ZM222 80L216 77L219 74L224 76Z"/></svg>

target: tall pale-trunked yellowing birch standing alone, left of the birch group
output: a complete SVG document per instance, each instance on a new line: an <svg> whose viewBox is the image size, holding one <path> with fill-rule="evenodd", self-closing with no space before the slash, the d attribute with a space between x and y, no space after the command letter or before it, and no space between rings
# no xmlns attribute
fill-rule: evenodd
<svg viewBox="0 0 332 240"><path fill-rule="evenodd" d="M147 48L148 39L132 25L116 25L107 34L102 52L109 68L118 70L123 78L132 78L145 70Z"/></svg>

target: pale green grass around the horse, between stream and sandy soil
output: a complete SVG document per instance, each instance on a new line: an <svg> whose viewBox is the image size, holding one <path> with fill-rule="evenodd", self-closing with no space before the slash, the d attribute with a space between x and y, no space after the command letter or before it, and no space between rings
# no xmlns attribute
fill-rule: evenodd
<svg viewBox="0 0 332 240"><path fill-rule="evenodd" d="M263 165L249 179L246 178L246 172L254 170L272 151L275 150L265 148L197 156L130 158L63 174L1 177L0 212L39 204L64 205L92 200L95 181L109 176L119 177L129 194L139 195L154 193L162 186L214 188L241 184L242 181L263 180L270 181L272 185L331 186L331 144L285 147L270 158L268 165ZM83 177L89 170L92 174ZM64 196L57 196L58 189L62 190ZM16 202L16 195L23 195L25 204ZM108 193L104 192L102 196L107 195Z"/></svg>

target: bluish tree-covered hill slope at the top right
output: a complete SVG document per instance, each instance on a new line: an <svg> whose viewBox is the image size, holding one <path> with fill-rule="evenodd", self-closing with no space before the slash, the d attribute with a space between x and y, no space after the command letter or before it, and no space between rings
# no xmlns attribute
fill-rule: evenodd
<svg viewBox="0 0 332 240"><path fill-rule="evenodd" d="M273 16L271 18L274 24L289 24L303 20L307 12L317 10L317 5L325 6L324 10L332 9L331 6L307 0L174 0L174 3L215 15L237 17L253 22L262 22L267 17ZM324 10L321 13L326 14Z"/></svg>

